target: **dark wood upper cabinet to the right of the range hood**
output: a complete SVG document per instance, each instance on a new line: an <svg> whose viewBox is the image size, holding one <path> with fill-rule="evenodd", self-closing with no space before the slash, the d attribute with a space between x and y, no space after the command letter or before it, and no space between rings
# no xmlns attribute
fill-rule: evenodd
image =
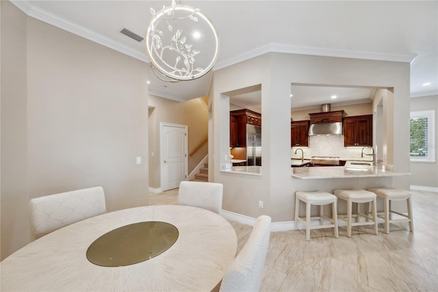
<svg viewBox="0 0 438 292"><path fill-rule="evenodd" d="M344 118L344 146L372 146L372 114Z"/></svg>

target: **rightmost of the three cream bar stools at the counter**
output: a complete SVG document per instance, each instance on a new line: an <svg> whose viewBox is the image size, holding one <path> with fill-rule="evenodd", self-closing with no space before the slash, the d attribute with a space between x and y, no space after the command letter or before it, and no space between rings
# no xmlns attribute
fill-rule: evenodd
<svg viewBox="0 0 438 292"><path fill-rule="evenodd" d="M368 188L368 191L373 192L384 200L383 216L377 215L377 217L385 220L385 233L389 234L389 223L405 221L409 222L409 231L413 232L413 218L412 218L412 202L411 193L401 188ZM392 210L391 201L404 201L407 204L407 214ZM400 215L404 218L392 219L392 214Z"/></svg>

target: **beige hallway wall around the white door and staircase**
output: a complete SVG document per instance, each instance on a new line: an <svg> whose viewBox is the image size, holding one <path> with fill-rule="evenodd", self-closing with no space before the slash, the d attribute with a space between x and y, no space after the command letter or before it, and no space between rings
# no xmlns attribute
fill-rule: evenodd
<svg viewBox="0 0 438 292"><path fill-rule="evenodd" d="M199 145L208 133L208 110L201 98L185 103L149 95L149 186L161 188L159 123L188 125L188 154ZM188 174L208 154L208 143L188 158Z"/></svg>

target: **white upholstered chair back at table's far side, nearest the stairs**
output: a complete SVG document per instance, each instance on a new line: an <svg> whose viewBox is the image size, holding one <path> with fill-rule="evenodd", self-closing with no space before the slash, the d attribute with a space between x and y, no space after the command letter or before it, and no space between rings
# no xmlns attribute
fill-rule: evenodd
<svg viewBox="0 0 438 292"><path fill-rule="evenodd" d="M179 183L178 204L211 210L215 213L222 210L223 185L216 182Z"/></svg>

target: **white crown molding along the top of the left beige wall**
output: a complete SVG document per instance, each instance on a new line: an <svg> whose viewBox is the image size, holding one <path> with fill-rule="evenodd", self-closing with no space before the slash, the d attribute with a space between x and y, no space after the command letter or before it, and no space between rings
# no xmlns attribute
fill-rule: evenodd
<svg viewBox="0 0 438 292"><path fill-rule="evenodd" d="M44 23L49 23L55 27L60 29L64 29L67 32L71 32L72 34L76 34L77 36L81 36L92 42L97 42L100 45L105 47L109 47L110 49L114 49L120 53L124 53L127 56L131 56L132 58L136 58L140 61L149 63L149 58L147 58L146 54L139 53L138 51L123 45L120 42L116 42L107 36L103 36L103 34L98 34L91 29L78 25L77 23L73 23L68 21L60 16L47 12L46 10L42 10L41 8L36 7L31 4L31 1L16 1L10 0L12 4L16 6L19 10L23 11L27 16L30 16L34 19L38 19Z"/></svg>

